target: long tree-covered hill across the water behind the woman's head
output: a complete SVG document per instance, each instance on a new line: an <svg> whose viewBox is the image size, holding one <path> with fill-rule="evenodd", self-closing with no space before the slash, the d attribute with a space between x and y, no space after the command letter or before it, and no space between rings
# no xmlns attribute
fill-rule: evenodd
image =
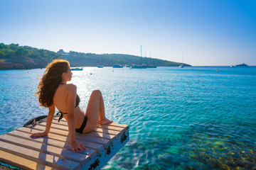
<svg viewBox="0 0 256 170"><path fill-rule="evenodd" d="M103 64L105 67L112 67L114 64L140 64L141 57L135 55L122 54L102 54L83 52L64 52L59 50L53 52L50 50L38 49L29 46L20 46L18 44L5 45L0 43L0 69L36 69L46 67L54 59L63 58L70 62L71 67L96 67L97 64ZM142 64L152 64L161 66L178 66L180 62L170 62L167 60L142 58ZM189 64L183 64L190 66Z"/></svg>

